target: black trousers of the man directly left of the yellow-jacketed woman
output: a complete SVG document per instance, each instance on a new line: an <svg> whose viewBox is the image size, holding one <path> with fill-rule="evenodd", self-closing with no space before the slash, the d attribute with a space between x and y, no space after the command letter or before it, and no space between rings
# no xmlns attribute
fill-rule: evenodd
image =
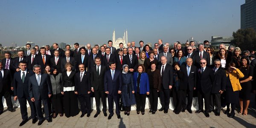
<svg viewBox="0 0 256 128"><path fill-rule="evenodd" d="M210 111L213 111L215 107L215 112L221 112L221 94L220 93L212 93L211 94L211 102L210 102Z"/></svg>

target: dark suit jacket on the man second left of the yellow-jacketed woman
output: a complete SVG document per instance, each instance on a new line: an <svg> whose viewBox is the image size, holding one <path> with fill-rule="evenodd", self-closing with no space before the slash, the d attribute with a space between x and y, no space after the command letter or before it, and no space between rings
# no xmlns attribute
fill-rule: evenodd
<svg viewBox="0 0 256 128"><path fill-rule="evenodd" d="M212 89L212 83L214 80L212 68L206 67L203 73L201 73L201 68L198 69L197 78L197 89L201 90L203 93L210 93Z"/></svg>

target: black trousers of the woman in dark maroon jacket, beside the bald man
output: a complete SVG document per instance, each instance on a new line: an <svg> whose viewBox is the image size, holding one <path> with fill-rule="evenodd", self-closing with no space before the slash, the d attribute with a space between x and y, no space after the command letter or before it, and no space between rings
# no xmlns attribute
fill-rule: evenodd
<svg viewBox="0 0 256 128"><path fill-rule="evenodd" d="M156 88L149 90L149 100L150 100L150 109L152 111L157 111L158 92Z"/></svg>

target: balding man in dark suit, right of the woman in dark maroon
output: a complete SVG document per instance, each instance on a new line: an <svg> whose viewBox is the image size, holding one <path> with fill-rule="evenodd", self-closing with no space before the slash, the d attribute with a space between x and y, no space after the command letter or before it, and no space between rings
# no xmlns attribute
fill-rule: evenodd
<svg viewBox="0 0 256 128"><path fill-rule="evenodd" d="M164 111L168 113L169 104L170 104L170 90L172 89L173 84L173 74L172 66L167 64L167 59L165 56L161 57L161 64L158 66L158 69L161 72L161 90L160 90L160 101L162 108L159 111Z"/></svg>

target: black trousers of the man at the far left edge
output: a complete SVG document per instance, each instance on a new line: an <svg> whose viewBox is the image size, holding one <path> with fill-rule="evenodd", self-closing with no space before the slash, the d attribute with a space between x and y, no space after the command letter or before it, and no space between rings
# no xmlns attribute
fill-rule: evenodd
<svg viewBox="0 0 256 128"><path fill-rule="evenodd" d="M2 90L2 92L0 93L0 97L1 97L1 100L0 100L0 111L3 111L3 100L2 100L3 96L6 99L7 109L11 110L13 108L11 94L10 94L9 91Z"/></svg>

